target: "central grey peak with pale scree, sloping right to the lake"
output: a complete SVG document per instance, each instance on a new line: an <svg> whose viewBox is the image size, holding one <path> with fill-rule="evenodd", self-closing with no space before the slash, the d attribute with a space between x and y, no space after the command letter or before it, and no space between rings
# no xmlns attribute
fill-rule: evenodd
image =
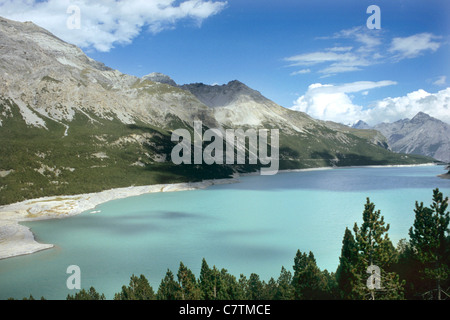
<svg viewBox="0 0 450 320"><path fill-rule="evenodd" d="M181 88L211 107L225 127L280 129L282 168L429 161L393 154L387 150L386 139L375 130L352 129L283 108L237 80L221 86L196 83Z"/></svg>

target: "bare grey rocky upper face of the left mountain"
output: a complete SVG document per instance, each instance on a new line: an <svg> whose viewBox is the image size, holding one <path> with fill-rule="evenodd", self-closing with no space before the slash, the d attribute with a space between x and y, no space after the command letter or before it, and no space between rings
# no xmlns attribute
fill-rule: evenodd
<svg viewBox="0 0 450 320"><path fill-rule="evenodd" d="M0 19L0 35L0 95L31 125L45 127L45 118L68 124L77 112L161 127L170 116L192 121L203 113L215 124L189 92L110 69L33 23Z"/></svg>

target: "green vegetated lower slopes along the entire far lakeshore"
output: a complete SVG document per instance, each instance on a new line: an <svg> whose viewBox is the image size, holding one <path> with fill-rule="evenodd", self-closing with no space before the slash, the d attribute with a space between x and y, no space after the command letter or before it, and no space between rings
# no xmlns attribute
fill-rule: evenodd
<svg viewBox="0 0 450 320"><path fill-rule="evenodd" d="M143 123L124 125L92 114L96 121L91 122L78 113L67 123L69 134L64 137L65 126L51 119L45 119L48 130L27 126L18 107L8 101L0 101L0 114L6 105L12 117L2 117L0 171L13 171L0 177L0 204L132 185L225 178L233 172L233 168L223 165L173 165L170 129ZM178 118L168 125L169 128L183 126L189 128ZM430 162L426 157L391 153L352 134L338 137L335 131L323 126L314 132L314 135L280 132L280 169ZM131 139L133 136L144 137L146 142L138 143ZM128 141L123 141L124 138ZM102 154L107 157L95 156ZM166 155L168 161L154 161L152 157L156 154ZM132 165L137 162L143 166ZM245 172L256 167L234 169Z"/></svg>

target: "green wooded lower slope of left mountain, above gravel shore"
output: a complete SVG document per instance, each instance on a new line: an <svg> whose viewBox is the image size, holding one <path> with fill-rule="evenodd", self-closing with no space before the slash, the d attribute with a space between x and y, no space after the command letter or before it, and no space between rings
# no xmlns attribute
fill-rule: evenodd
<svg viewBox="0 0 450 320"><path fill-rule="evenodd" d="M6 107L8 109L6 109ZM148 124L124 125L77 112L66 127L51 119L27 126L19 109L0 100L11 117L0 127L0 205L44 196L76 195L112 188L228 178L227 166L175 166L171 132ZM159 160L158 156L163 160ZM165 159L165 161L164 161Z"/></svg>

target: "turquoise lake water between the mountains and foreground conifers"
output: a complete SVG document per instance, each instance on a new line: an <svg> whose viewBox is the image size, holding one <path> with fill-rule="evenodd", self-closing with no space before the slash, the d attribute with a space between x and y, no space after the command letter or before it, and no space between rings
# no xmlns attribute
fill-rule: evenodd
<svg viewBox="0 0 450 320"><path fill-rule="evenodd" d="M334 272L346 227L362 223L366 198L390 224L394 245L408 238L415 201L429 206L432 190L450 196L442 166L345 168L242 177L204 190L146 194L111 201L61 220L27 223L54 249L0 261L0 299L65 299L70 265L81 284L108 299L144 274L154 290L183 261L196 276L202 258L231 274L278 278L292 271L297 250L312 251ZM92 211L100 211L92 213Z"/></svg>

